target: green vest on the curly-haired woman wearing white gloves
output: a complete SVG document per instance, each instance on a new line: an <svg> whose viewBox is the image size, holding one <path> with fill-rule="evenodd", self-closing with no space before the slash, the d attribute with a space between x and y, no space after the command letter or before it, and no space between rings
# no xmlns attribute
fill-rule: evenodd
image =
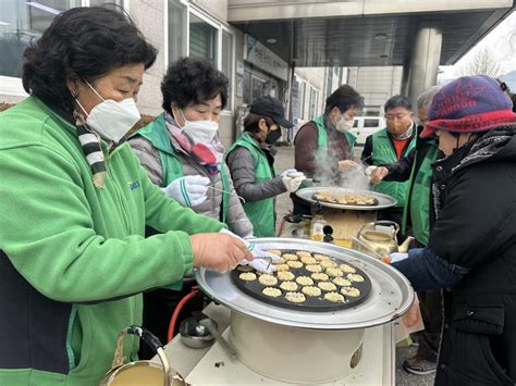
<svg viewBox="0 0 516 386"><path fill-rule="evenodd" d="M158 117L150 122L148 125L144 126L137 132L138 135L146 138L152 146L158 149L160 159L161 159L161 170L162 170L162 186L165 187L174 179L181 178L184 176L183 164L181 160L175 154L174 148L170 141L169 132L167 130L167 124L164 122L164 115L160 114ZM230 183L224 167L221 167L221 179L224 188L222 195L222 210L220 221L225 223L228 215L228 206L230 200ZM183 287L183 279L167 286L168 289L180 290Z"/></svg>

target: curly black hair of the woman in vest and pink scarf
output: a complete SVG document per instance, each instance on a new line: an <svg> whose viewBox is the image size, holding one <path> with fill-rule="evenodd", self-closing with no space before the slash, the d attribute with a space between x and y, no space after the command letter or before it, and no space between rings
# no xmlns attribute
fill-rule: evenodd
<svg viewBox="0 0 516 386"><path fill-rule="evenodd" d="M170 64L161 82L162 108L172 113L172 103L183 109L213 99L219 94L224 108L228 102L228 77L209 61L180 58Z"/></svg>

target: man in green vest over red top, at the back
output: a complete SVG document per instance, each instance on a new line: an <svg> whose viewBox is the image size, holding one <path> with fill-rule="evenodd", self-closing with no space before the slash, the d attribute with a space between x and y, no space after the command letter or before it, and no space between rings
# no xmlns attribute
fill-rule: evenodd
<svg viewBox="0 0 516 386"><path fill-rule="evenodd" d="M386 127L367 137L361 159L369 165L394 163L407 155L416 146L417 125L410 100L403 96L390 98L384 105ZM408 194L408 182L381 182L377 191L396 200L396 206L378 213L379 220L402 224L403 209Z"/></svg>

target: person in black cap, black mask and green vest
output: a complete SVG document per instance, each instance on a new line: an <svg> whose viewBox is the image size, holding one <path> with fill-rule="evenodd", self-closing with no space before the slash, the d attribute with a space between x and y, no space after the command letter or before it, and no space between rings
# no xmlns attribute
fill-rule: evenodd
<svg viewBox="0 0 516 386"><path fill-rule="evenodd" d="M226 157L236 192L245 199L244 210L258 237L275 236L274 197L297 190L305 179L294 169L277 175L273 145L281 137L280 126L293 126L284 114L280 100L255 99L244 120L244 133Z"/></svg>

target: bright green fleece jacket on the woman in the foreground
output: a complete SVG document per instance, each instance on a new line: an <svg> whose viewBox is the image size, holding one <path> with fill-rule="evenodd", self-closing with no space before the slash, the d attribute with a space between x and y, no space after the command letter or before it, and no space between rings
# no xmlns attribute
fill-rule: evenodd
<svg viewBox="0 0 516 386"><path fill-rule="evenodd" d="M37 304L21 299L15 315L9 317L12 322L0 316L4 319L0 326L11 323L7 328L17 336L21 350L27 351L20 354L4 347L5 353L0 348L0 385L98 384L110 369L118 333L142 323L140 294L191 272L188 235L223 227L168 199L127 145L105 153L106 187L99 189L93 184L75 127L41 101L29 97L0 114L3 259L56 310L61 304L70 310L63 325L56 322L42 332L62 328L61 341L38 337L42 321L37 319L29 321L28 331L19 331L25 328L17 328L16 317L24 321ZM145 238L146 224L163 234ZM12 289L4 287L14 283L10 279L0 284L0 298L12 296ZM41 314L49 311L44 302L37 307ZM126 358L135 358L137 349L136 339L126 340ZM8 358L9 363L26 361L26 366L2 364L9 350L22 357L17 362ZM67 370L34 364L34 358L42 356L45 361L46 356L59 352L65 353Z"/></svg>

